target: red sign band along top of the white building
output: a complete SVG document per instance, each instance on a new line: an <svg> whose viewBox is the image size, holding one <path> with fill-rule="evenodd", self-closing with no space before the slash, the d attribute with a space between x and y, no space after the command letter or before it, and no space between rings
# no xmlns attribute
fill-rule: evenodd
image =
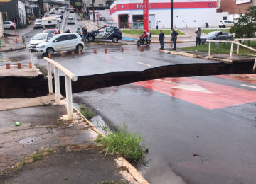
<svg viewBox="0 0 256 184"><path fill-rule="evenodd" d="M131 3L131 4L122 4L119 2L113 8L110 9L110 14L116 11L124 11L124 10L142 10L143 3ZM138 5L138 6L137 6ZM216 8L216 1L198 1L198 2L174 2L174 9L183 9L183 8ZM170 9L171 2L165 3L150 3L149 1L149 9Z"/></svg>

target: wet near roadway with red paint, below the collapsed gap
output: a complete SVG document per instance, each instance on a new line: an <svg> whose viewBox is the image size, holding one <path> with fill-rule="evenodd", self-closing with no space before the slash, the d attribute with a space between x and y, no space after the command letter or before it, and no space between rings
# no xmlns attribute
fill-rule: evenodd
<svg viewBox="0 0 256 184"><path fill-rule="evenodd" d="M107 125L126 122L142 133L149 167L140 171L149 183L177 183L171 170L187 183L255 183L255 84L215 76L172 81L101 88L73 100L89 105ZM177 84L208 91L170 86Z"/></svg>

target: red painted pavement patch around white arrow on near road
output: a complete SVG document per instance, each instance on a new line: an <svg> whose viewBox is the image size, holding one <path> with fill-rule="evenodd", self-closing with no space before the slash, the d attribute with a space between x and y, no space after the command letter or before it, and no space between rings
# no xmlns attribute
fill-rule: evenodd
<svg viewBox="0 0 256 184"><path fill-rule="evenodd" d="M169 84L164 81L157 80L142 81L133 84L143 86L169 96L174 96L175 98L186 100L187 102L194 103L208 109L226 108L229 106L252 103L256 101L255 91L247 91L241 88L234 88L231 86L190 78L162 78L162 80L171 81L177 84ZM199 86L206 88L206 90L210 91L212 94L171 88L178 86L178 84L198 84Z"/></svg>

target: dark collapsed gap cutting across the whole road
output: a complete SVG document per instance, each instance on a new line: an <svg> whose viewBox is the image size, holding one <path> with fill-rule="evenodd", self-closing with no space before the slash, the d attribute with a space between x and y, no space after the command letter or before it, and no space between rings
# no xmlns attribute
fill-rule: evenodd
<svg viewBox="0 0 256 184"><path fill-rule="evenodd" d="M143 71L112 72L78 76L72 82L72 92L80 93L97 88L119 86L137 81L162 77L209 76L220 74L252 74L254 60L233 61L233 63L212 62L176 64L154 67ZM4 71L6 66L1 66ZM31 73L29 73L31 74ZM65 96L65 77L60 76L60 93ZM0 98L34 98L48 94L48 79L39 71L33 75L19 75L13 72L0 74Z"/></svg>

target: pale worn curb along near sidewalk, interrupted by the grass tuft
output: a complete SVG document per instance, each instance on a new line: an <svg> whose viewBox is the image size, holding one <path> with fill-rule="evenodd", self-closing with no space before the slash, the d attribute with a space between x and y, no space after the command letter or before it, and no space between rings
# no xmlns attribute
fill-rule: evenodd
<svg viewBox="0 0 256 184"><path fill-rule="evenodd" d="M92 127L91 129L93 131L95 131L97 134L102 134L102 132L100 132L99 130L97 130L97 128L92 125L92 123L86 119L86 117L84 115L82 115L82 113L80 113L80 111L75 108L75 106L73 106L73 109L77 111L77 113L79 115L82 116L82 118L85 120L85 122L87 122L88 125L90 125L90 127ZM129 163L126 159L124 159L123 157L118 157L117 159L114 159L114 161L116 161L118 166L124 166L128 169L128 172L121 172L122 175L124 176L124 178L126 178L127 180L129 180L129 183L133 183L133 184L149 184L148 181L145 180L145 178L139 173L139 171L137 171L136 168L134 168L134 166L131 165L131 163Z"/></svg>

